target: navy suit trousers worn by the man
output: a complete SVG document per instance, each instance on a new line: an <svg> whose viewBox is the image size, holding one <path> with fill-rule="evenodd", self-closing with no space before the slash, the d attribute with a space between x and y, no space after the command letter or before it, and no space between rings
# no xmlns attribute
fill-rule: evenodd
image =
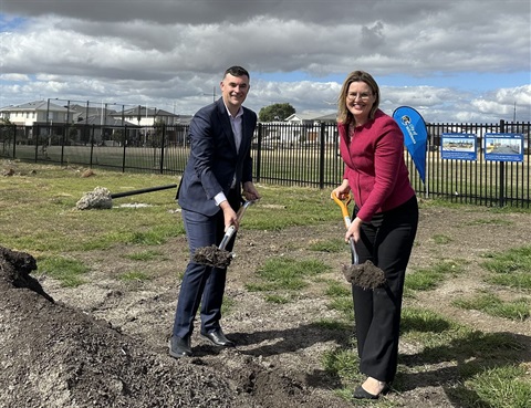
<svg viewBox="0 0 531 408"><path fill-rule="evenodd" d="M235 195L236 196L236 195ZM238 209L235 196L229 195L228 199L232 208ZM212 268L191 261L196 249L219 245L225 234L223 211L212 217L198 212L183 210L183 221L190 250L190 262L188 263L183 282L180 284L173 335L186 338L194 331L199 305L201 318L201 333L208 333L220 328L221 304L223 302L225 284L227 279L226 268ZM232 251L236 233L226 247Z"/></svg>

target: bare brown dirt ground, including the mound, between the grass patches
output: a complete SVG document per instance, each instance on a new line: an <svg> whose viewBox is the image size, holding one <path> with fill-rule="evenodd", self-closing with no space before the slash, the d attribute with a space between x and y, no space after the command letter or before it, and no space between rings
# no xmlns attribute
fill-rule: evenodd
<svg viewBox="0 0 531 408"><path fill-rule="evenodd" d="M529 226L529 215L523 213L424 206L410 271L448 259L466 260L466 272L435 291L406 299L405 305L436 311L482 332L513 333L525 347L523 360L530 363L529 321L494 318L451 305L458 295L488 287L481 257L528 244ZM196 333L195 356L181 360L169 357L167 339L178 275L188 260L186 238L157 247L160 257L156 262L126 258L140 251L133 245L79 253L92 272L87 283L75 289L61 287L38 270L31 271L38 280L29 276L25 284L17 284L13 276L24 269L10 260L22 257L31 270L31 257L0 257L0 407L341 408L356 404L334 394L340 380L322 367L323 353L347 347L353 331L314 325L337 317L323 294L323 279L347 285L342 265L348 261L348 252L323 253L309 248L343 233L340 222L282 231L246 231L243 226L227 284L230 307L222 320L225 333L238 346L217 348ZM447 242L438 243L437 236L447 237ZM269 303L263 294L248 292L244 284L256 279L257 268L271 257L320 259L331 270L310 281L293 301ZM146 269L153 279L117 279L139 269ZM34 291L40 286L54 302ZM499 293L514 295L507 289ZM403 359L418 353L416 345L402 343ZM447 393L456 380L451 363L418 364L425 368L403 378L407 386L385 398L403 407L459 406Z"/></svg>

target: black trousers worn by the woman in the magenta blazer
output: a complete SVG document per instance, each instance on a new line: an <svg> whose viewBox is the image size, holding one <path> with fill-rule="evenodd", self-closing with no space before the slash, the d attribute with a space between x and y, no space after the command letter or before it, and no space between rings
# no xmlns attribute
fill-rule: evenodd
<svg viewBox="0 0 531 408"><path fill-rule="evenodd" d="M417 224L418 205L413 197L362 223L356 242L360 263L371 260L387 281L374 291L352 286L360 370L381 381L391 383L396 375L404 280Z"/></svg>

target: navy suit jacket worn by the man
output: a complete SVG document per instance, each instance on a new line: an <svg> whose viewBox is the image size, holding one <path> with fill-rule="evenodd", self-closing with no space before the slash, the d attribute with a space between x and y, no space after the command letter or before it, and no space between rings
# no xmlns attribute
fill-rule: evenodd
<svg viewBox="0 0 531 408"><path fill-rule="evenodd" d="M179 206L211 217L220 208L214 198L220 191L228 197L236 176L236 189L252 181L251 140L257 114L243 107L241 144L237 151L230 118L222 98L199 109L191 119L190 157L177 190Z"/></svg>

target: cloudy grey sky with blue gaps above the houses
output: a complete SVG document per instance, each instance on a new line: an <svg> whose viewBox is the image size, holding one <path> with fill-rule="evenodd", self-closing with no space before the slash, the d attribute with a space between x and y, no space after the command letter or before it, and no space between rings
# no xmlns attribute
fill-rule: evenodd
<svg viewBox="0 0 531 408"><path fill-rule="evenodd" d="M388 114L528 122L530 50L530 0L0 0L0 106L194 114L242 65L257 113L333 113L345 76L364 70Z"/></svg>

